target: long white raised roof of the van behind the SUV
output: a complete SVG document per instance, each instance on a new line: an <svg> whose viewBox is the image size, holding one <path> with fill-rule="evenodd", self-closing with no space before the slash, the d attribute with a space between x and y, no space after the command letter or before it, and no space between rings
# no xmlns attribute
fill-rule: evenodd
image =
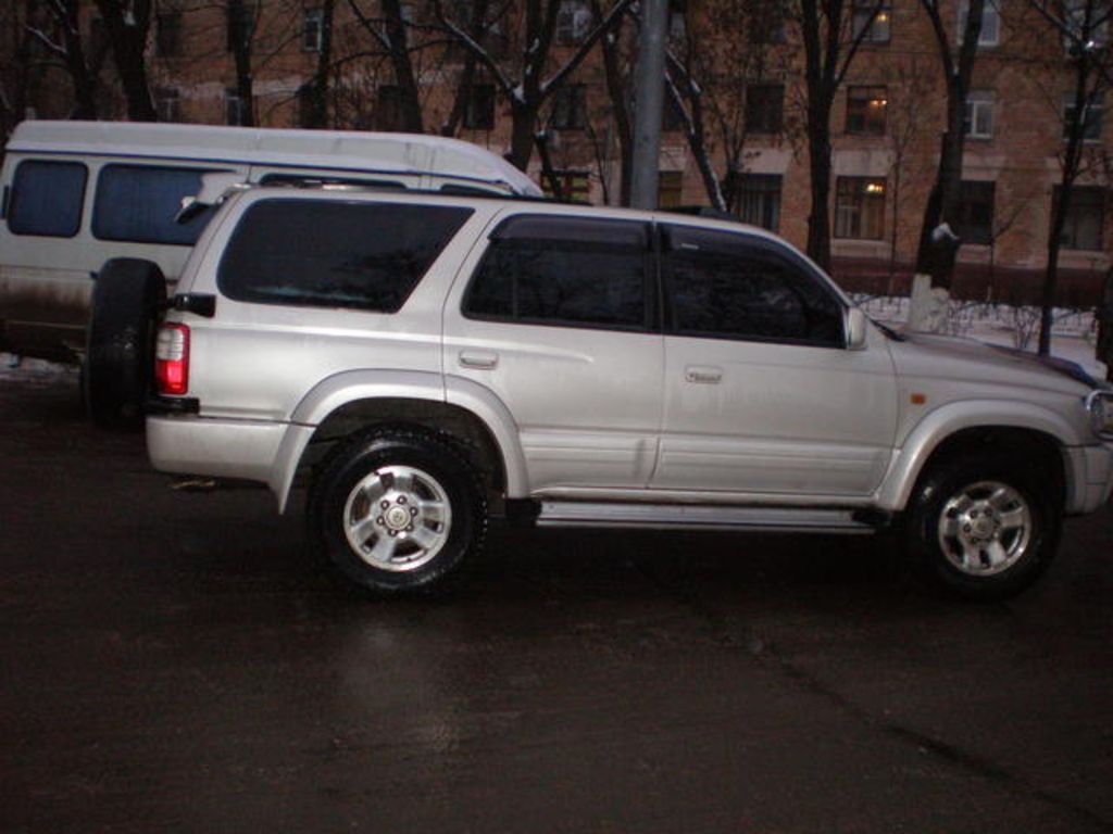
<svg viewBox="0 0 1113 834"><path fill-rule="evenodd" d="M427 173L542 195L525 173L476 145L418 133L30 120L12 132L8 150Z"/></svg>

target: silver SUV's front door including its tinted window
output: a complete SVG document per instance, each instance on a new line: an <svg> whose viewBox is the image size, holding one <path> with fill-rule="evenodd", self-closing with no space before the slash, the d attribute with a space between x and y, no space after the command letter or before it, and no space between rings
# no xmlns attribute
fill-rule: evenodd
<svg viewBox="0 0 1113 834"><path fill-rule="evenodd" d="M887 347L847 350L841 300L775 241L661 231L664 421L652 486L868 495L896 427Z"/></svg>

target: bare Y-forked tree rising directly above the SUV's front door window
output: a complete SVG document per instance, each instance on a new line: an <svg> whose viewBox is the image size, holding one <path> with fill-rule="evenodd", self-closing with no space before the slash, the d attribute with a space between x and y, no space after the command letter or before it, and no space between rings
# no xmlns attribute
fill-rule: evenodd
<svg viewBox="0 0 1113 834"><path fill-rule="evenodd" d="M869 34L883 0L861 10L853 0L792 0L805 59L805 123L811 185L808 255L830 268L831 108L859 47Z"/></svg>

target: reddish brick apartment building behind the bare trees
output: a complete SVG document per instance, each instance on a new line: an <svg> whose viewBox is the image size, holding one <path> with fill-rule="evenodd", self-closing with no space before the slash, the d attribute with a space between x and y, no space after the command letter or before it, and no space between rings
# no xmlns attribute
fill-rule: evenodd
<svg viewBox="0 0 1113 834"><path fill-rule="evenodd" d="M493 66L513 81L515 71L522 72L524 23L513 13L484 17L486 7L479 7L476 16L477 2L445 0L443 17L480 21L477 40ZM856 2L848 28L866 28L875 3ZM801 127L804 59L797 27L784 12L788 6L770 0L674 2L670 29L683 67L674 80L680 86L687 73L688 90L700 92L702 141L729 210L802 247L810 205ZM105 57L104 24L89 7L80 26L90 61L99 60L98 116L126 118ZM965 242L956 291L967 297L1031 299L1046 264L1051 210L1062 177L1071 62L1062 37L1030 7L1028 0L987 2L963 165L958 231ZM386 8L381 0L156 0L147 69L158 116L298 126L312 121L306 113L314 83L323 79L325 126L400 129L404 96L388 48L388 19L382 17ZM945 6L953 41L959 37L964 8L965 0ZM401 3L397 11L407 30L422 129L434 132L447 126L453 135L505 152L512 115L508 95L491 68L469 66L466 50L452 42L434 9L432 0L416 0ZM577 54L599 14L593 0L561 0L548 71ZM544 157L565 196L592 202L620 200L615 110L629 96L632 26L626 22L614 34L591 47L538 112L536 127L546 137ZM247 73L244 66L237 72L237 39L249 44ZM2 49L11 51L13 43ZM1100 46L1104 48L1104 34ZM32 48L43 52L41 44ZM245 75L250 100L244 96ZM32 112L71 112L62 67L42 62L29 78ZM690 99L681 99L690 106ZM906 289L935 172L945 99L920 3L884 3L866 28L833 110L833 264L845 285L875 292ZM689 109L687 115L693 113ZM663 206L711 202L684 116L671 108L666 113ZM1065 302L1092 304L1111 266L1106 121L1096 107L1087 116L1084 170L1062 236ZM541 157L534 152L529 168L539 181L544 179Z"/></svg>

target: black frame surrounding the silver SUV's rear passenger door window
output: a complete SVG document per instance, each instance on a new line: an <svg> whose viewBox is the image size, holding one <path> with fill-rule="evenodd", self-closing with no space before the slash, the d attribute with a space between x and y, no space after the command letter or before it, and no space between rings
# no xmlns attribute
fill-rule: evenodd
<svg viewBox="0 0 1113 834"><path fill-rule="evenodd" d="M539 231L533 234L521 234L515 226L530 228L533 224L539 227ZM579 234L569 234L570 229L574 229L579 226ZM615 229L624 227L630 232L640 229L641 236L643 238L643 246L631 246L629 244L615 244L607 245L607 235L600 236L599 240L590 240L590 229L594 228L597 231L601 230L603 227L611 226ZM503 324L511 326L524 326L524 327L552 327L559 329L572 329L572 330L602 330L608 332L629 332L629 334L646 334L646 332L660 332L660 314L658 307L658 284L657 284L657 264L656 264L656 252L653 248L653 228L652 224L644 220L626 220L621 218L583 218L574 217L569 215L533 215L533 214L522 214L513 215L502 220L489 235L486 239L486 249L480 257L472 270L472 274L467 277L467 285L464 287L463 294L460 297L460 315L463 318L472 321L490 321L493 324ZM500 241L522 241L520 244L504 242ZM541 318L541 317L526 317L521 316L515 309L512 309L510 315L498 315L498 314L484 314L475 312L470 308L471 301L474 297L475 287L483 275L483 270L487 262L498 257L499 254L505 250L524 249L531 242L550 240L554 244L560 244L562 246L554 246L553 248L564 248L564 247L575 247L575 246L599 246L607 247L604 250L614 251L615 249L623 249L630 251L631 254L641 252L641 284L642 284L642 320L638 325L621 325L621 324L601 324L594 321L575 321L569 319L555 319L555 318ZM518 277L514 276L513 279L515 285ZM516 287L512 288L512 297L516 296Z"/></svg>

